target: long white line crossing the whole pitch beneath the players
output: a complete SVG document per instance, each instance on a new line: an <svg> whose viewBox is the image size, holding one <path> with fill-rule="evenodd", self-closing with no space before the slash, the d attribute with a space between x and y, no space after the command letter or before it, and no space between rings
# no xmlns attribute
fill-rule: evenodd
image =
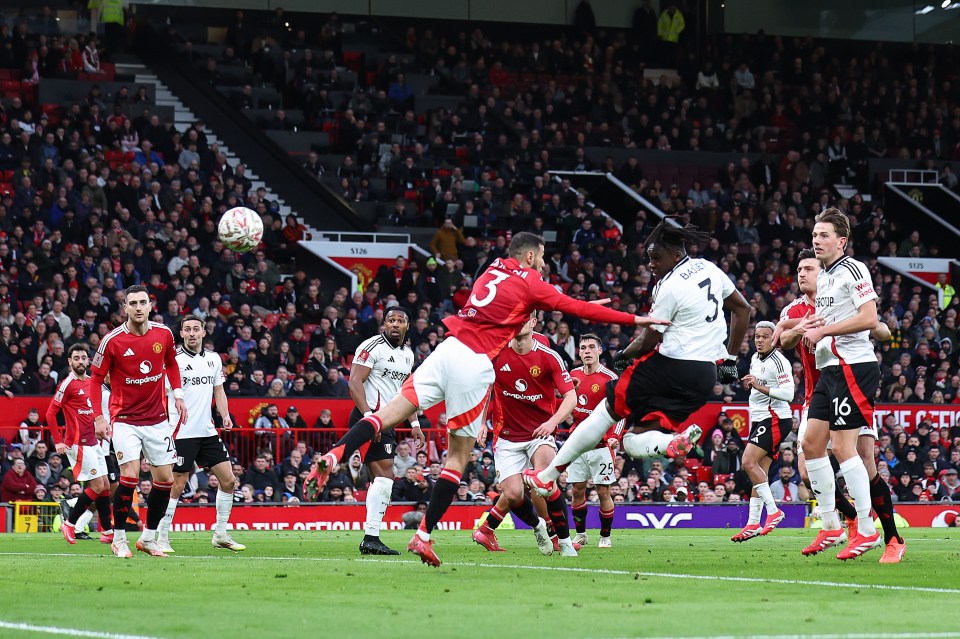
<svg viewBox="0 0 960 639"><path fill-rule="evenodd" d="M106 559L109 555L91 555L75 553L32 553L32 552L0 552L0 556L27 556L27 557L94 557ZM411 559L346 559L340 557L259 557L254 555L176 555L172 559L221 559L227 561L315 561L336 563L380 563L380 564L419 564ZM573 572L591 575L622 575L626 577L652 577L654 579L690 579L696 581L730 581L760 584L785 584L789 586L818 586L827 588L846 588L860 590L893 590L902 592L932 592L938 594L960 595L958 588L934 588L928 586L892 586L887 584L860 584L837 581L813 581L804 579L764 579L761 577L734 577L724 575L694 575L680 572L651 572L644 570L613 570L610 568L577 568L576 566L529 566L523 564L487 564L468 561L446 561L445 566L463 566L466 568L493 568L507 570L545 570L554 572ZM792 635L791 635L792 636ZM831 635L832 636L832 635ZM956 635L960 637L960 633ZM846 635L844 635L846 637ZM700 638L697 638L700 639ZM714 639L723 639L716 637ZM856 639L850 636L848 639ZM896 638L893 638L896 639Z"/></svg>

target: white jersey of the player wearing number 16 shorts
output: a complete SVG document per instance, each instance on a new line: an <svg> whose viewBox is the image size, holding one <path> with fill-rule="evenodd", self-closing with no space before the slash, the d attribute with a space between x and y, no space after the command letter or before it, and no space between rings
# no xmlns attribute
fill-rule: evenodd
<svg viewBox="0 0 960 639"><path fill-rule="evenodd" d="M852 257L841 257L817 276L817 315L827 325L855 316L861 306L875 299L870 271ZM869 330L824 337L817 342L816 355L818 369L839 366L840 360L847 364L877 363Z"/></svg>

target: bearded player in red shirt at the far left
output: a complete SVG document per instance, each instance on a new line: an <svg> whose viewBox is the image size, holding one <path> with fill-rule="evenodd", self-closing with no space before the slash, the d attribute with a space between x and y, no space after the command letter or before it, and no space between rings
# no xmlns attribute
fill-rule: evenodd
<svg viewBox="0 0 960 639"><path fill-rule="evenodd" d="M53 443L57 454L66 454L70 460L74 479L86 485L60 531L68 543L77 543L77 521L91 504L96 504L100 517L100 540L111 541L110 482L107 479L107 460L98 441L107 433L105 428L98 431L93 423L100 405L94 404L90 397L90 378L87 376L90 349L86 344L74 344L67 353L67 361L70 372L60 382L57 394L47 408L47 424L53 427L57 423L57 412L63 411L66 437L60 434L59 428L52 428Z"/></svg>

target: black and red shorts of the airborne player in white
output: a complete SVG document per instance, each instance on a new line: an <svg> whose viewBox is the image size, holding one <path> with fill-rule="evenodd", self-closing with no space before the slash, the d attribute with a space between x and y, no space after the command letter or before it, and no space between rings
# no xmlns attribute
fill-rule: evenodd
<svg viewBox="0 0 960 639"><path fill-rule="evenodd" d="M707 403L716 383L714 362L673 359L654 351L637 359L620 379L607 382L607 401L628 426L657 418L665 429L681 432L681 422Z"/></svg>

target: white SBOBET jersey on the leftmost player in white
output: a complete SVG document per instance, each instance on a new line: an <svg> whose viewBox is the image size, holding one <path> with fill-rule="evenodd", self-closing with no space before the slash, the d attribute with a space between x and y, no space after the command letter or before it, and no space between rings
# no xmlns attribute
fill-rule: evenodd
<svg viewBox="0 0 960 639"><path fill-rule="evenodd" d="M206 349L194 355L183 346L177 347L177 366L183 382L183 402L187 405L187 422L174 432L176 439L216 436L213 425L213 388L222 386L223 362L220 356ZM167 388L170 403L170 422L174 427L179 419L173 394Z"/></svg>

